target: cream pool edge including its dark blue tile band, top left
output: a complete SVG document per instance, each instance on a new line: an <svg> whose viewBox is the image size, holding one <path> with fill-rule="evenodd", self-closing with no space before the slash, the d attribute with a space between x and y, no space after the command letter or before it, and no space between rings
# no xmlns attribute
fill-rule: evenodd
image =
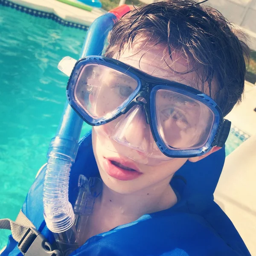
<svg viewBox="0 0 256 256"><path fill-rule="evenodd" d="M83 30L87 30L97 17L105 13L99 8L88 12L56 0L0 0L0 5Z"/></svg>

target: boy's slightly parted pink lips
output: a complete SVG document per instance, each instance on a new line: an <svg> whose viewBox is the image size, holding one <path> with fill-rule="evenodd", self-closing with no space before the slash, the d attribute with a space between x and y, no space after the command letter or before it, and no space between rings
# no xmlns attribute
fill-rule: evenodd
<svg viewBox="0 0 256 256"><path fill-rule="evenodd" d="M134 164L121 158L105 158L103 161L105 171L118 180L134 180L142 173Z"/></svg>

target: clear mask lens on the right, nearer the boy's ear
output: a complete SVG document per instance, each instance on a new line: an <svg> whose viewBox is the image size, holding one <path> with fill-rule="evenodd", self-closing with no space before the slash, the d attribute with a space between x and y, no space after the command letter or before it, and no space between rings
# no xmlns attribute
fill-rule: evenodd
<svg viewBox="0 0 256 256"><path fill-rule="evenodd" d="M214 122L214 113L189 96L158 90L155 97L157 128L170 149L195 149L205 145Z"/></svg>

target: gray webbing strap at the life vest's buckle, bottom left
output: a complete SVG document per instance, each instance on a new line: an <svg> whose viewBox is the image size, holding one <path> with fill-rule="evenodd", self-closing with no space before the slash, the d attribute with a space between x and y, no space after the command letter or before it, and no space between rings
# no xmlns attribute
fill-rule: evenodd
<svg viewBox="0 0 256 256"><path fill-rule="evenodd" d="M26 217L26 215L20 210L16 221L10 219L0 219L0 229L8 229L12 231L12 237L18 243L29 230L30 227L35 227L32 222ZM23 239L19 246L19 249L23 251L26 248L27 243L30 241L31 237L35 234L30 230L27 236Z"/></svg>

